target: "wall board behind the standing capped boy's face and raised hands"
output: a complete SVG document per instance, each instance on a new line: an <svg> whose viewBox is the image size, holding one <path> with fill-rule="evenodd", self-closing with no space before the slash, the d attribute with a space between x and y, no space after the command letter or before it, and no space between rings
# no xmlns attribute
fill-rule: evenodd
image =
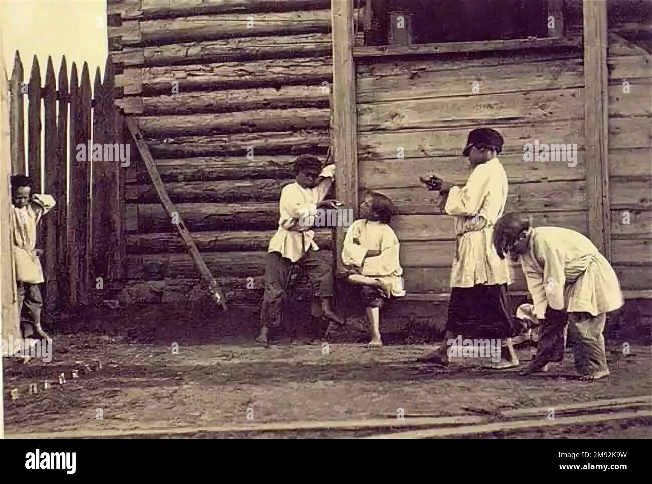
<svg viewBox="0 0 652 484"><path fill-rule="evenodd" d="M499 155L509 183L531 181L574 181L585 179L584 151L578 151L576 166L570 162L526 162L522 154ZM573 164L573 163L571 163ZM422 187L419 176L434 170L455 183L466 183L471 174L463 157L411 158L405 160L361 160L359 185L363 189Z"/></svg>

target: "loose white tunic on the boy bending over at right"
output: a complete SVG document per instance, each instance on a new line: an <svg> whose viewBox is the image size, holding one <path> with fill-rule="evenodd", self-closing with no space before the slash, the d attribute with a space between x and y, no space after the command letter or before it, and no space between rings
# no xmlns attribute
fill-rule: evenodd
<svg viewBox="0 0 652 484"><path fill-rule="evenodd" d="M582 234L558 227L532 228L529 250L520 261L539 319L548 306L597 316L624 304L614 268Z"/></svg>

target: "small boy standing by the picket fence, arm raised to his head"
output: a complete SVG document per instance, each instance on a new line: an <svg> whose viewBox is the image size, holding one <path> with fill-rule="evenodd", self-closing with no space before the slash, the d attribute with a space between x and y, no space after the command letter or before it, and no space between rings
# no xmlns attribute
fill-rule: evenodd
<svg viewBox="0 0 652 484"><path fill-rule="evenodd" d="M41 217L55 205L50 195L31 194L33 181L25 175L11 177L11 197L14 205L12 235L16 284L18 286L18 312L24 311L31 328L23 327L23 338L33 334L40 339L50 337L41 327L43 299L38 284L44 282L43 271L38 260L40 250L35 249L37 225Z"/></svg>

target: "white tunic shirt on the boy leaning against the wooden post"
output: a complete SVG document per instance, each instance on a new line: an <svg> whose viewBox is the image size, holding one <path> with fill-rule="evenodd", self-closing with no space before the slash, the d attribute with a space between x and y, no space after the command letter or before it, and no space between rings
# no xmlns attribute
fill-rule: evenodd
<svg viewBox="0 0 652 484"><path fill-rule="evenodd" d="M278 230L269 241L267 252L280 252L292 262L297 262L308 249L319 250L314 241L315 233L310 227L317 215L317 205L325 200L331 188L335 165L325 166L321 176L325 179L312 189L306 189L297 182L283 187L278 202Z"/></svg>

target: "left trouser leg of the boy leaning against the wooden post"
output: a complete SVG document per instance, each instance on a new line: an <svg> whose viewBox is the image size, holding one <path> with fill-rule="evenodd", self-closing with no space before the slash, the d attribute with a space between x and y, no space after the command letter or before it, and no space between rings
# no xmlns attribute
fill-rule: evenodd
<svg viewBox="0 0 652 484"><path fill-rule="evenodd" d="M292 261L278 252L269 252L265 262L265 294L260 310L260 325L278 327L280 312L286 296L286 288Z"/></svg>

